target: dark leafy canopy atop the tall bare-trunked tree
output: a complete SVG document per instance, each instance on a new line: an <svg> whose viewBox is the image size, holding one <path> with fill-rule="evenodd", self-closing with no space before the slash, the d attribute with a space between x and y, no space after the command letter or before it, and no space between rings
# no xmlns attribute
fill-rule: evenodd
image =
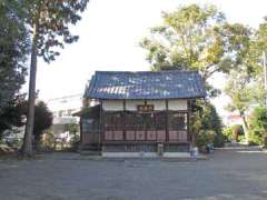
<svg viewBox="0 0 267 200"><path fill-rule="evenodd" d="M46 62L59 56L59 48L72 43L78 36L70 32L70 24L76 24L89 0L24 0L27 22L32 31L36 28L37 53ZM32 32L33 34L33 32Z"/></svg>

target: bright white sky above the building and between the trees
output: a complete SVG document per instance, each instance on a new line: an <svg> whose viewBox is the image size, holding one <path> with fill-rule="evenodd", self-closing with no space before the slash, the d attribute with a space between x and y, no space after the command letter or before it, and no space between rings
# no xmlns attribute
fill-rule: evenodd
<svg viewBox="0 0 267 200"><path fill-rule="evenodd" d="M161 11L192 2L216 4L230 22L251 27L267 16L266 0L90 0L82 20L73 28L80 40L66 47L50 64L39 59L40 99L82 93L96 70L148 70L146 53L138 42L150 27L160 23ZM219 79L212 82L221 84Z"/></svg>

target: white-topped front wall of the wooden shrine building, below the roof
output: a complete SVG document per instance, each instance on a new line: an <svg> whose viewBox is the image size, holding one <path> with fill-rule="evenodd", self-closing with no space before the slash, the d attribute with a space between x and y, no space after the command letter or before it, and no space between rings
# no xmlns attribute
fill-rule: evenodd
<svg viewBox="0 0 267 200"><path fill-rule="evenodd" d="M188 142L188 101L187 100L103 100L98 131L83 131L82 143L99 141L126 142ZM137 106L154 104L154 112L139 113ZM150 124L146 121L154 119ZM179 114L185 114L185 128L179 129ZM115 119L109 116L115 116ZM142 116L142 117L139 117ZM178 118L177 118L178 116ZM171 121L172 119L172 121ZM149 124L149 126L148 126ZM86 128L86 127L83 127Z"/></svg>

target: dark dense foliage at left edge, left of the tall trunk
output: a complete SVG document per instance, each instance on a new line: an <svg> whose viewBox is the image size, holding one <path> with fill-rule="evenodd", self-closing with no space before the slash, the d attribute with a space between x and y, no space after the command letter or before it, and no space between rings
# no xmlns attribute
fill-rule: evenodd
<svg viewBox="0 0 267 200"><path fill-rule="evenodd" d="M21 1L0 1L0 120L7 121L1 123L3 126L8 123L3 116L8 117L7 110L17 102L17 94L27 73L30 43Z"/></svg>

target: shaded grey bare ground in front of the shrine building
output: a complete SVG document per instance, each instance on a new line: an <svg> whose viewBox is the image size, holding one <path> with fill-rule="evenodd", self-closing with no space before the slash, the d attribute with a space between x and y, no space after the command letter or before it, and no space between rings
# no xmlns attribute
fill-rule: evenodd
<svg viewBox="0 0 267 200"><path fill-rule="evenodd" d="M0 159L0 200L267 199L267 153L209 160L107 160L78 153Z"/></svg>

